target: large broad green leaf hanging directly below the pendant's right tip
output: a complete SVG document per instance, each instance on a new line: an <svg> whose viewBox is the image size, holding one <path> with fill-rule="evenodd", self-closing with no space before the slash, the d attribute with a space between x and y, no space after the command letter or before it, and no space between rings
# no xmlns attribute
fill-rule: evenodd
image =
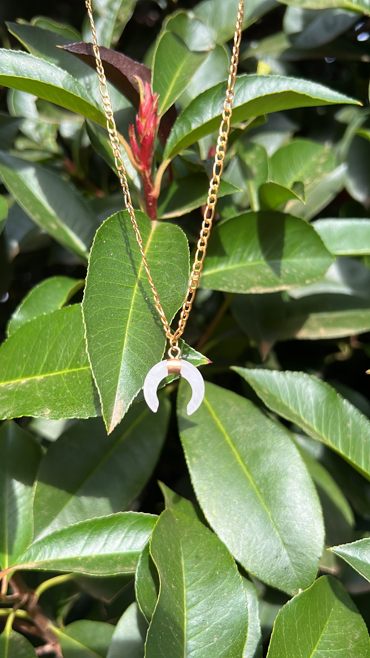
<svg viewBox="0 0 370 658"><path fill-rule="evenodd" d="M214 384L206 382L191 422L187 401L182 382L180 438L207 521L260 580L288 594L307 587L324 530L317 493L295 445L249 400Z"/></svg>

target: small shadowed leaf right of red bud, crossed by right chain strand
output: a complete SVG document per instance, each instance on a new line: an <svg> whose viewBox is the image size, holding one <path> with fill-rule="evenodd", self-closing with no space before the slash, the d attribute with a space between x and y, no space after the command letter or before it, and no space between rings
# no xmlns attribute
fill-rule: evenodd
<svg viewBox="0 0 370 658"><path fill-rule="evenodd" d="M158 200L158 216L164 219L180 217L206 203L209 180L206 174L192 174L178 178L161 191ZM240 191L226 180L221 180L219 199Z"/></svg>

